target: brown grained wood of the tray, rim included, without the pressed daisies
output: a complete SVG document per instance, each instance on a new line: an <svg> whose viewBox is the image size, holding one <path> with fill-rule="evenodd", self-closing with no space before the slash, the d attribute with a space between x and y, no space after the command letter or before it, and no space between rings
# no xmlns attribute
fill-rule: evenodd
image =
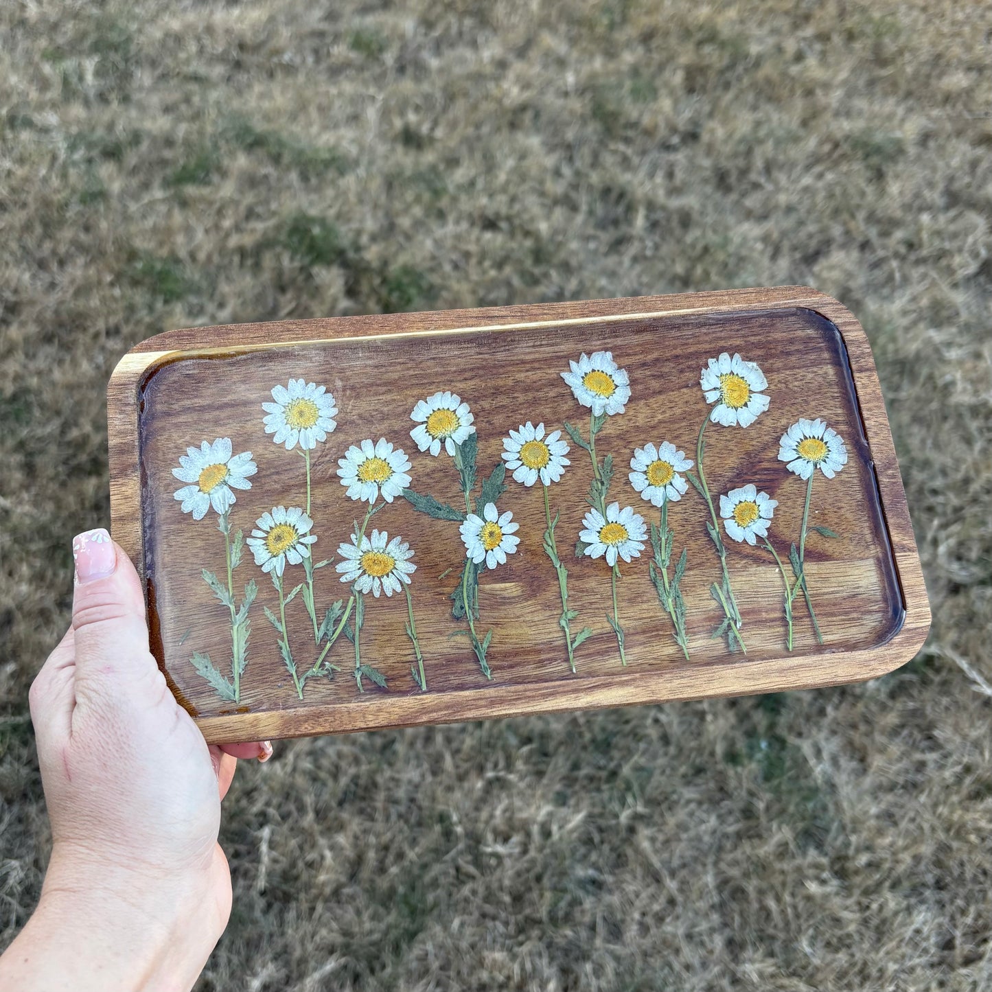
<svg viewBox="0 0 992 992"><path fill-rule="evenodd" d="M271 583L246 555L237 584L259 582L252 609L249 661L235 711L189 664L209 651L229 667L226 611L200 578L202 567L224 568L216 515L194 522L173 497L172 476L190 444L229 436L251 450L258 474L239 493L233 528L247 534L263 510L303 505L303 458L264 433L261 404L292 376L324 384L339 408L337 429L313 452L311 516L317 559L335 555L362 506L347 499L335 469L349 444L385 436L413 462L412 488L459 505L451 459L419 452L410 437L418 399L450 389L468 402L478 431L480 474L499 460L502 437L531 420L549 430L565 420L588 428L559 377L569 358L609 349L629 372L626 413L611 417L597 438L612 453L617 476L610 499L632 505L646 520L659 511L627 481L635 446L671 440L695 457L695 439L709 408L699 369L721 351L739 351L769 380L771 407L746 430L707 428L706 472L714 498L754 482L779 500L771 537L781 553L798 539L806 484L777 460L778 439L800 417L822 417L847 442L849 462L835 479L817 474L806 570L825 644L812 636L805 606L796 603L796 650L786 651L781 578L761 548L728 543L731 575L745 625L748 654L731 655L710 634L721 612L710 598L719 561L705 532L707 511L690 488L671 505L676 555L688 549L684 595L690 659L672 637L648 577L644 556L622 566L620 615L629 665L622 668L606 622L609 569L602 560L573 558L591 477L586 452L572 447L571 466L552 486L561 511L558 550L569 569L573 623L594 636L568 670L558 628L558 583L542 547L541 488L508 473L500 509L521 524L518 554L480 580L481 631L492 629L494 681L481 674L450 615L450 593L463 560L458 525L417 514L405 501L370 525L402 534L415 550L413 595L429 691L410 676L413 651L404 632L402 597L366 597L363 655L386 675L387 690L359 695L348 673L351 645L341 638L328 656L342 668L333 681L312 680L299 700L262 615L275 608ZM108 387L112 525L115 539L147 581L153 651L171 684L210 741L274 738L375 727L477 719L514 713L659 702L667 699L801 688L868 679L908 661L930 625L923 576L874 362L864 332L836 301L806 288L745 290L437 313L293 320L171 331L142 342L118 365ZM336 555L335 555L336 558ZM787 564L788 567L788 564ZM445 570L451 569L443 578ZM302 568L288 578L291 587ZM333 567L316 573L318 610L347 595ZM294 653L309 664L312 637L302 602L288 614ZM225 654L226 650L226 654Z"/></svg>

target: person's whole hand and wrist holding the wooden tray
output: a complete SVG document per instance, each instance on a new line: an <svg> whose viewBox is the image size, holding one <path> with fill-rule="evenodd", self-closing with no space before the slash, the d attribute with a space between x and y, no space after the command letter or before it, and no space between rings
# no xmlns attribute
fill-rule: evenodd
<svg viewBox="0 0 992 992"><path fill-rule="evenodd" d="M190 988L231 908L220 801L272 747L208 747L149 652L130 560L103 530L72 554L72 624L31 687L52 859L0 987Z"/></svg>

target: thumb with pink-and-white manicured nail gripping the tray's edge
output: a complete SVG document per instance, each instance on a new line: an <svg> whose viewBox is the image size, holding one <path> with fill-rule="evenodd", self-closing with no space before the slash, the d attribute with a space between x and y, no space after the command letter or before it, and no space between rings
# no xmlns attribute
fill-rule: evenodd
<svg viewBox="0 0 992 992"><path fill-rule="evenodd" d="M103 528L75 538L72 558L77 696L157 672L148 649L141 580L130 559Z"/></svg>

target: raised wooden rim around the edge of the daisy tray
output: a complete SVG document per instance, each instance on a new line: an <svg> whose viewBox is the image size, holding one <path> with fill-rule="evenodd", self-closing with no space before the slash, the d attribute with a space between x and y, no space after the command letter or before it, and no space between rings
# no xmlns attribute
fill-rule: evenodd
<svg viewBox="0 0 992 992"><path fill-rule="evenodd" d="M861 682L892 672L917 654L930 631L930 603L868 338L849 310L810 287L221 324L166 331L135 345L117 364L107 386L110 517L114 540L135 562L148 602L138 428L141 391L164 364L217 352L243 352L273 345L341 338L538 329L562 324L601 323L612 318L626 320L793 309L811 310L828 320L837 328L847 352L859 414L873 457L882 520L905 608L902 625L887 641L857 651L796 655L785 664L782 659L748 658L665 668L658 673L641 672L631 678L584 677L566 690L562 690L562 682L547 685L497 683L437 694L391 694L388 706L350 706L338 702L289 710L195 717L206 740L232 742L355 732ZM268 339L256 340L262 328Z"/></svg>

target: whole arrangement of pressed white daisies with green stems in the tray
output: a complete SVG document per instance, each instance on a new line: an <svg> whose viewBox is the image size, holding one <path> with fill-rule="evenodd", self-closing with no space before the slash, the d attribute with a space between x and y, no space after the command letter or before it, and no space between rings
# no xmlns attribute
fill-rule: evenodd
<svg viewBox="0 0 992 992"><path fill-rule="evenodd" d="M337 458L336 475L345 497L366 505L367 509L360 520L354 521L348 540L337 545L336 561L334 558L314 561L312 554L317 534L311 516L314 486L311 456L334 433L337 427L334 418L338 415L335 399L324 386L304 378L291 378L286 386L277 385L272 389L272 402L262 404L265 434L270 434L273 442L287 451L297 450L304 458L299 493L305 505L280 504L267 509L255 520L247 540L242 531L232 532L231 511L237 501L235 492L250 490L249 478L258 470L251 452L234 455L227 437L218 437L213 442L204 440L198 448L187 448L186 454L180 457L179 467L173 469L173 474L185 483L176 490L175 498L181 504L181 511L195 521L202 520L211 510L217 515L218 530L224 537L227 580L222 581L206 568L202 570L202 577L227 609L231 630L230 676L222 674L209 655L201 652L194 652L190 657L195 671L221 698L235 703L240 701L251 633L249 612L258 594L254 579L244 585L240 598L235 593L234 573L241 563L243 549L247 547L255 564L269 576L275 589L276 603L272 607L263 604L263 610L277 632L279 655L300 699L304 698L310 680L333 678L334 673L341 671L340 665L328 658L341 635L354 650L352 673L358 691L365 691L366 682L383 689L389 687L383 672L371 664L367 654L362 656L362 630L367 620L369 596L373 601L380 597L385 601L401 592L407 607L404 630L413 652L411 677L421 691L427 691L425 654L412 595L412 579L417 571L414 549L401 536L390 537L385 528L368 531L373 516L402 498L420 513L458 524L463 563L450 599L453 618L464 622L465 627L453 633L468 638L482 674L492 680L489 649L494 631L488 629L482 633L482 628L476 625L476 621L481 621L479 583L486 573L505 566L521 544L520 525L514 518L514 511L498 506L498 501L507 492L506 472L509 471L522 489L541 488L545 521L541 546L555 571L560 602L560 613L550 617L549 622L560 631L568 670L577 674L576 650L595 631L590 626L575 629L579 613L569 599L568 566L558 553L557 529L561 510L557 508L553 513L551 490L561 482L566 471L573 469L567 456L571 448L562 432L589 456L591 479L575 555L576 558L602 559L609 568L607 603L610 608L605 618L616 641L622 667L627 665L627 645L618 592L621 565L635 563L649 543L652 556L648 561L648 578L672 624L672 635L682 657L686 661L689 659L688 611L682 590L688 549L683 547L676 555L675 531L670 523L672 506L682 501L689 482L706 505L710 518L706 531L720 562L720 580L711 583L710 593L719 605L723 619L713 636L726 636L731 651L746 652L740 633L744 618L732 584L726 542L755 547L760 542L771 554L782 578L788 650L792 651L794 647L794 604L801 594L815 637L823 643L806 575L806 540L816 471L826 479L832 479L847 462L847 449L840 435L820 419L801 419L780 438L778 459L786 462L789 472L806 481L799 538L790 546L788 554L790 574L769 536L778 502L752 484L730 489L719 495L718 502L714 501L704 468L708 424L746 429L769 409L770 399L764 392L768 389L768 381L756 363L745 361L739 354L731 357L723 352L717 358L709 359L702 369L699 383L703 398L712 409L698 432L695 461L668 440L657 444L649 441L634 448L628 481L644 503L659 511L658 522L652 522L650 526L632 506L621 507L618 500L608 501L615 475L613 455L600 455L596 449L597 437L609 419L623 414L631 402L626 369L617 364L609 351L595 351L591 355L583 352L577 361L569 361L569 370L560 376L570 387L573 398L589 410L587 434L570 422L554 431L546 430L544 422L535 426L532 421L511 428L502 438L501 459L481 478L477 468L478 435L469 405L450 390L435 392L417 402L410 414L415 424L410 436L421 456L451 459L464 510L412 489L411 459L402 447L386 437L378 440L367 437L357 444L350 444ZM837 536L820 525L813 530L824 538ZM321 617L314 576L332 561L339 580L348 588L348 596L327 606ZM297 568L302 576L300 571L295 571ZM630 574L633 576L637 572ZM290 579L294 575L300 576L299 581ZM312 657L303 665L294 654L291 636L294 625L292 612L288 613L297 597L304 604L312 638ZM296 643L299 644L299 639ZM299 648L297 650L299 652Z"/></svg>

